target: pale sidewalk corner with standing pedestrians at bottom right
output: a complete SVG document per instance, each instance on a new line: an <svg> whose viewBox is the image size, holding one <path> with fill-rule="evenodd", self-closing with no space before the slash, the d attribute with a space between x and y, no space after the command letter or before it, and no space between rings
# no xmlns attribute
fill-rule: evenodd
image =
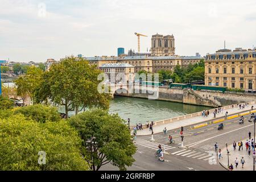
<svg viewBox="0 0 256 182"><path fill-rule="evenodd" d="M248 138L249 140L249 138ZM252 171L253 170L253 149L251 147L251 154L248 155L248 151L246 151L246 146L245 146L245 142L246 140L242 140L243 142L243 150L241 149L240 151L238 150L238 141L237 142L237 150L234 151L233 149L233 142L232 145L228 146L228 150L229 150L229 165L232 164L234 169L233 171ZM241 141L239 141L241 142ZM228 156L226 155L226 148L222 148L222 156L223 158L218 159L218 162L221 163L221 165L225 168L228 168ZM243 157L243 159L245 159L245 164L243 165L242 168L242 164L241 164L241 158ZM238 159L238 166L236 168L236 164L234 163L235 159ZM256 165L255 165L256 167Z"/></svg>

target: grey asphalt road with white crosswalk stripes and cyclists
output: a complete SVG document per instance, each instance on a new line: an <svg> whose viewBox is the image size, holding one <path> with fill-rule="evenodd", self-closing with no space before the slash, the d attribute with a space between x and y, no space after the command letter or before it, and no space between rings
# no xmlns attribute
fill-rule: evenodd
<svg viewBox="0 0 256 182"><path fill-rule="evenodd" d="M184 146L185 149L178 148L181 144L179 136L180 129L168 131L154 135L155 142L150 142L151 136L137 137L135 145L137 152L134 154L136 160L133 166L127 170L225 170L217 160L214 154L214 144L217 142L219 148L224 148L226 142L232 144L234 141L239 142L245 138L249 131L253 133L253 124L248 122L250 115L245 115L245 122L238 124L239 118L224 121L224 130L217 130L218 124L212 124L199 129L192 129L190 126L184 127ZM168 145L167 138L169 135L175 140L175 144ZM165 162L160 162L154 154L158 144L166 145L166 151L169 155L164 155ZM210 151L210 153L209 153ZM222 155L226 151L222 151ZM214 164L214 159L216 164ZM118 170L118 168L108 165L102 167L102 170Z"/></svg>

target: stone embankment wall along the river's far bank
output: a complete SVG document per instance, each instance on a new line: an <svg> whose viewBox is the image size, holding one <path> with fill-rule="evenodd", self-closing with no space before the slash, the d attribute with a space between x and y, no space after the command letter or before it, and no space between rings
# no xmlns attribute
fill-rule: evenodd
<svg viewBox="0 0 256 182"><path fill-rule="evenodd" d="M152 96L147 92L150 88L140 88L139 93L119 93L114 95L125 97L148 98ZM227 106L243 102L256 100L256 94L250 93L234 93L234 92L214 92L208 90L192 90L192 89L170 89L159 86L158 98L156 100L180 102L183 104L201 105L201 106Z"/></svg>

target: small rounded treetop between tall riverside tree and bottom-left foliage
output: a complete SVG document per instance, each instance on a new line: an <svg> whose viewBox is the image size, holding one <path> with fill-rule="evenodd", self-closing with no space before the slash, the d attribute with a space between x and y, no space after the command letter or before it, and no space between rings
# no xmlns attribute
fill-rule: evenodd
<svg viewBox="0 0 256 182"><path fill-rule="evenodd" d="M57 122L61 119L56 107L44 106L41 104L15 109L14 114L18 113L40 123L45 123L46 121Z"/></svg>

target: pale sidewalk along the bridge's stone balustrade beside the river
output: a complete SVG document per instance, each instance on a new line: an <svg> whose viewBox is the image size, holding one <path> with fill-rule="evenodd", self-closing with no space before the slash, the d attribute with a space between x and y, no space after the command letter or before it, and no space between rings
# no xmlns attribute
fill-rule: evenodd
<svg viewBox="0 0 256 182"><path fill-rule="evenodd" d="M253 108L254 109L256 108L255 104L253 105ZM207 122L212 119L217 120L217 119L220 119L221 117L225 117L226 111L228 111L228 116L230 116L232 114L238 114L238 113L246 112L246 111L250 111L250 110L251 110L251 105L245 106L245 109L239 109L239 107L237 108L237 105L234 105L234 108L227 109L227 110L222 111L222 113L220 113L220 114L216 114L216 118L214 118L213 113L210 113L208 117L198 116L198 117L183 119L183 120L175 121L175 122L171 122L171 123L166 123L163 125L156 125L156 126L153 126L153 131L154 131L154 134L158 134L158 133L163 132L164 127L166 127L166 129L168 131L168 130L180 129L181 126L196 125L198 123ZM143 129L143 130L138 130L137 135L138 136L151 135L151 131L148 128Z"/></svg>

